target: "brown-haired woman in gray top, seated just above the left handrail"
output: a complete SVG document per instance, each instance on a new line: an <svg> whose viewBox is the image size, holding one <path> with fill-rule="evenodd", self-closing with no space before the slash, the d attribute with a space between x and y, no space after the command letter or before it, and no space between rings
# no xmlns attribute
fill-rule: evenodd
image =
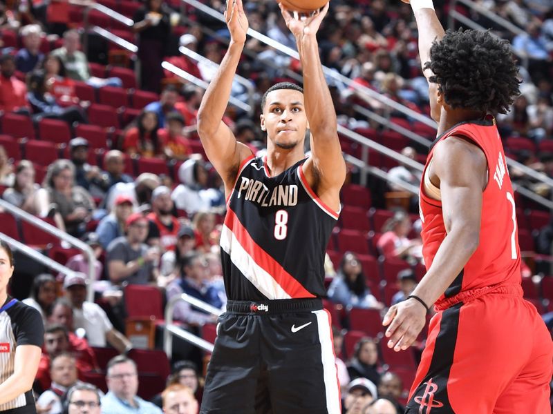
<svg viewBox="0 0 553 414"><path fill-rule="evenodd" d="M43 187L48 205L54 204L66 232L76 237L83 235L95 204L88 191L75 186L75 166L71 161L57 159L50 164Z"/></svg>

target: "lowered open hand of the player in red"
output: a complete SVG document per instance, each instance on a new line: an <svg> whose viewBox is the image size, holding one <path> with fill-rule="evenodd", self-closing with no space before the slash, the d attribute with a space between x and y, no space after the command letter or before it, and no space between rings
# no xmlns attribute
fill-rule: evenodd
<svg viewBox="0 0 553 414"><path fill-rule="evenodd" d="M388 326L386 337L388 348L401 351L409 348L417 339L427 322L427 311L415 299L407 299L391 306L382 324Z"/></svg>

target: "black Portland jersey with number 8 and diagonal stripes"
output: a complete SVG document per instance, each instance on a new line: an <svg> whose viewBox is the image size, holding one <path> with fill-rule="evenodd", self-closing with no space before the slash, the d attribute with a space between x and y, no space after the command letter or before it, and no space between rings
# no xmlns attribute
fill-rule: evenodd
<svg viewBox="0 0 553 414"><path fill-rule="evenodd" d="M324 255L338 213L310 188L305 159L271 177L266 159L243 161L221 233L230 300L321 297Z"/></svg>

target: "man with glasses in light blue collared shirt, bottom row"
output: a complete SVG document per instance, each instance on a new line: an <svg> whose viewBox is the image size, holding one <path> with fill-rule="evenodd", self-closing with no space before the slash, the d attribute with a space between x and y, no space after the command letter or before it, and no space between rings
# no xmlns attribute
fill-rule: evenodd
<svg viewBox="0 0 553 414"><path fill-rule="evenodd" d="M161 414L160 408L136 395L138 372L132 359L118 355L107 365L108 393L102 397L102 414Z"/></svg>

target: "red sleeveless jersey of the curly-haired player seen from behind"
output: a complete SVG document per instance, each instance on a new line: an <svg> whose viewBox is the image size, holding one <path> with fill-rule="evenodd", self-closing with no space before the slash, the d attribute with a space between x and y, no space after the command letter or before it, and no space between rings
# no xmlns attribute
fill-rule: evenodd
<svg viewBox="0 0 553 414"><path fill-rule="evenodd" d="M486 156L488 179L482 193L480 244L438 302L460 292L486 286L521 284L521 252L518 248L513 188L507 172L505 151L494 120L464 122L444 132L436 139L428 155L423 178L431 162L435 144L451 136L466 138L480 147ZM420 188L420 215L422 254L428 269L446 236L446 230L442 203L424 193L424 179Z"/></svg>

